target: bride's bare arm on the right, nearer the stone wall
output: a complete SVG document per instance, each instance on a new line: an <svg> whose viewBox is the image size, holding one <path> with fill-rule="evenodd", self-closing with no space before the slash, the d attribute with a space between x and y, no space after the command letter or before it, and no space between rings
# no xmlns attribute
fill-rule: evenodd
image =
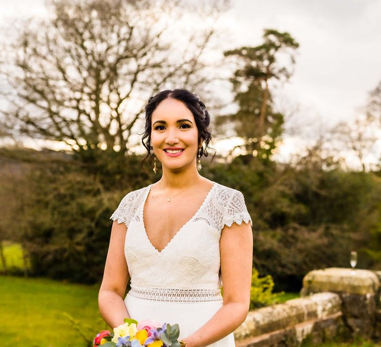
<svg viewBox="0 0 381 347"><path fill-rule="evenodd" d="M223 306L201 328L183 339L187 347L204 347L236 330L250 306L253 231L250 224L225 226L220 239Z"/></svg>

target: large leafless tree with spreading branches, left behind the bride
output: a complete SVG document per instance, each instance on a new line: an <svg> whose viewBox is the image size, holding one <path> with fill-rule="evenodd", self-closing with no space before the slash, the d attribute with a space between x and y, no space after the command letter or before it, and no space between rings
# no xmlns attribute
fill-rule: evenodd
<svg viewBox="0 0 381 347"><path fill-rule="evenodd" d="M48 20L30 20L3 50L3 134L63 141L79 154L126 153L149 95L208 79L203 54L215 30L176 36L186 12L178 1L52 0L49 8Z"/></svg>

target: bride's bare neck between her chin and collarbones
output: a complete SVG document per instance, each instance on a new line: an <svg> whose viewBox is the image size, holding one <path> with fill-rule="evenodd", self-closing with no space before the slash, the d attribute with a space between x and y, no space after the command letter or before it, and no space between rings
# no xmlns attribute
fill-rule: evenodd
<svg viewBox="0 0 381 347"><path fill-rule="evenodd" d="M193 165L188 169L183 168L181 171L174 171L164 167L161 181L166 189L180 190L189 187L200 177L201 175Z"/></svg>

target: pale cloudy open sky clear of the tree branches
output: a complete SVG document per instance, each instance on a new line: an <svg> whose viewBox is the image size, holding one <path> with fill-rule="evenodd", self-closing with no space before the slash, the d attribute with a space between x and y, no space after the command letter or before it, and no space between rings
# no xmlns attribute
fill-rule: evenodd
<svg viewBox="0 0 381 347"><path fill-rule="evenodd" d="M288 31L300 44L292 78L275 91L280 107L298 110L302 120L299 136L295 131L286 136L279 152L283 158L305 141L306 129L353 119L380 82L381 0L232 0L231 4L217 23L226 32L221 48L256 46L264 28ZM43 0L0 0L0 8L0 20L46 13Z"/></svg>

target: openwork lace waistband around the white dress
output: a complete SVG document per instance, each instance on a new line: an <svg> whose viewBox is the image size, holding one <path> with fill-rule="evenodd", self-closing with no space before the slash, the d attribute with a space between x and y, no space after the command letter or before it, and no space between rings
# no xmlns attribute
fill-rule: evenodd
<svg viewBox="0 0 381 347"><path fill-rule="evenodd" d="M166 302L205 302L222 301L221 289L141 289L132 287L128 295L138 299Z"/></svg>

